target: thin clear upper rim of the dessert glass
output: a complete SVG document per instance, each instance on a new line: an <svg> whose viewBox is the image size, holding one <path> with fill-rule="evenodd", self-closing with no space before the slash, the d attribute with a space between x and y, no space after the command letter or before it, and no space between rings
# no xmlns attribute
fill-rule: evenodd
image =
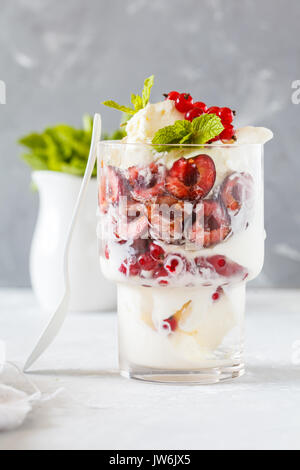
<svg viewBox="0 0 300 470"><path fill-rule="evenodd" d="M232 144L224 144L223 142L221 143L212 143L212 144L152 144L152 142L123 142L122 140L100 140L98 142L98 145L107 145L107 146L113 146L113 145L124 145L124 146L139 146L139 147L152 147L155 150L156 146L164 146L167 148L175 148L175 149L193 149L193 148L199 148L199 147L204 147L204 148L239 148L239 147L253 147L253 146L259 146L263 147L265 144L264 143L232 143ZM163 153L163 152L159 152Z"/></svg>

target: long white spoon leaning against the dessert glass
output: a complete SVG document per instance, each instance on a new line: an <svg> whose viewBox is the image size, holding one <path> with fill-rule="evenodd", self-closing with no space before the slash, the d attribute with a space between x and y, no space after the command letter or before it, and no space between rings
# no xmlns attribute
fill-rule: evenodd
<svg viewBox="0 0 300 470"><path fill-rule="evenodd" d="M96 157L97 157L97 143L100 141L100 137L101 137L101 116L99 114L95 114L89 159L87 162L87 166L86 166L85 174L84 174L83 181L81 184L78 199L76 201L76 205L74 208L73 217L72 217L71 224L69 227L69 232L68 232L66 246L65 246L65 252L64 252L65 293L64 293L61 303L59 304L59 307L57 308L56 312L52 315L48 326L46 327L42 336L38 340L37 345L35 346L34 350L32 351L29 358L27 359L26 364L24 366L24 371L28 370L32 366L32 364L43 354L43 352L47 349L47 347L52 343L57 333L59 332L60 328L62 327L65 321L67 312L68 312L70 293L71 293L70 292L70 278L69 278L70 246L71 246L74 228L78 220L78 215L80 213L82 203L86 196L89 181L92 177L92 173L95 168Z"/></svg>

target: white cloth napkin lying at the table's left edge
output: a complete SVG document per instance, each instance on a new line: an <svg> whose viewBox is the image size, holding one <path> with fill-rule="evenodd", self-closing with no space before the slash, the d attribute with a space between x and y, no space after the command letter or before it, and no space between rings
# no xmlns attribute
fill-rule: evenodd
<svg viewBox="0 0 300 470"><path fill-rule="evenodd" d="M6 362L5 343L0 341L0 432L21 426L34 405L51 400L61 391L43 394L17 365Z"/></svg>

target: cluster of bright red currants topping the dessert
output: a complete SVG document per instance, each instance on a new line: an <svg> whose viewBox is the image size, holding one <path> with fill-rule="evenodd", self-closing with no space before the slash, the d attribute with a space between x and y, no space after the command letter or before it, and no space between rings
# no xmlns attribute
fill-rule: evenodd
<svg viewBox="0 0 300 470"><path fill-rule="evenodd" d="M202 114L215 114L218 116L224 126L223 132L215 137L211 142L222 140L228 142L235 139L235 130L232 125L235 116L235 111L230 108L219 108L218 106L211 106L208 108L202 101L194 103L193 98L189 93L178 93L178 91L171 91L165 95L166 99L175 101L177 111L185 114L185 119L193 121L195 118L202 116Z"/></svg>

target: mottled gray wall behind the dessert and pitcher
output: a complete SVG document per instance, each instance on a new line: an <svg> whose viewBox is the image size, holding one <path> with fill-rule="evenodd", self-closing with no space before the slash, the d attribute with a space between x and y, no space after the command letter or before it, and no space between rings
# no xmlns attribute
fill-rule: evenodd
<svg viewBox="0 0 300 470"><path fill-rule="evenodd" d="M266 263L257 285L300 286L299 0L1 0L0 286L27 286L38 209L16 139L126 102L154 73L170 89L229 104L239 124L270 127ZM101 109L107 130L118 113ZM255 252L253 253L255 256Z"/></svg>

